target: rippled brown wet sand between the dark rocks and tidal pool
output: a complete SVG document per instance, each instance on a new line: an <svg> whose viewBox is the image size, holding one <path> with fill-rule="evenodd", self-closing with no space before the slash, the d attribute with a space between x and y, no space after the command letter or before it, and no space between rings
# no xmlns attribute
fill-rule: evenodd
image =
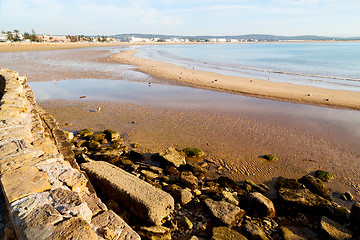
<svg viewBox="0 0 360 240"><path fill-rule="evenodd" d="M46 100L38 104L53 114L64 129L112 128L127 142L138 143L145 152L159 152L171 146L199 147L206 157L224 161L222 173L239 181L251 179L272 184L278 176L298 178L318 169L328 170L336 176L327 184L335 197L351 191L359 199L360 152L300 124L284 126L281 121L227 111L117 102ZM102 108L100 112L91 111L98 106ZM267 153L277 155L279 160L265 161L261 156Z"/></svg>

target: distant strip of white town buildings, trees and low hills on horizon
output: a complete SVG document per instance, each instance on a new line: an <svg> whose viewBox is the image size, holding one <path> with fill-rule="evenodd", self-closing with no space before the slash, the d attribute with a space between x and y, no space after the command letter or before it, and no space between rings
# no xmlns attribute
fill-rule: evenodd
<svg viewBox="0 0 360 240"><path fill-rule="evenodd" d="M218 42L218 43L236 43L236 42L292 42L292 41L351 41L360 40L357 38L333 38L314 35L304 36L274 36L264 34L248 34L238 36L170 36L156 34L118 34L114 36L84 36L84 35L46 35L36 34L34 30L31 33L20 33L19 30L2 31L0 33L0 42L43 42L43 43L69 43L69 42L110 42L110 43L190 43L190 42Z"/></svg>

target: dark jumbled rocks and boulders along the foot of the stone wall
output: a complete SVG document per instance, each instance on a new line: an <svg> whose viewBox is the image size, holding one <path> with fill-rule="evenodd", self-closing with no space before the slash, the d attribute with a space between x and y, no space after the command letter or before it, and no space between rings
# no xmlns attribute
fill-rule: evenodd
<svg viewBox="0 0 360 240"><path fill-rule="evenodd" d="M215 177L212 173L224 166L197 148L143 153L109 129L84 129L69 138L100 198L144 239L360 237L360 205L353 201L348 210L333 201L326 187L329 172L280 176L270 189L251 180ZM264 158L276 161L273 155ZM271 191L275 198L270 199ZM352 201L348 192L342 198Z"/></svg>

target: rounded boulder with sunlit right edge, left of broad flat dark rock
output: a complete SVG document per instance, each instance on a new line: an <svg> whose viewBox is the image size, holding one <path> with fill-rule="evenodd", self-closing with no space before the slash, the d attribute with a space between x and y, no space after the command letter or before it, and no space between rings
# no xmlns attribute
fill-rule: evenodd
<svg viewBox="0 0 360 240"><path fill-rule="evenodd" d="M275 217L276 211L273 202L261 193L250 193L249 201L251 208L255 210L254 215L268 218Z"/></svg>

